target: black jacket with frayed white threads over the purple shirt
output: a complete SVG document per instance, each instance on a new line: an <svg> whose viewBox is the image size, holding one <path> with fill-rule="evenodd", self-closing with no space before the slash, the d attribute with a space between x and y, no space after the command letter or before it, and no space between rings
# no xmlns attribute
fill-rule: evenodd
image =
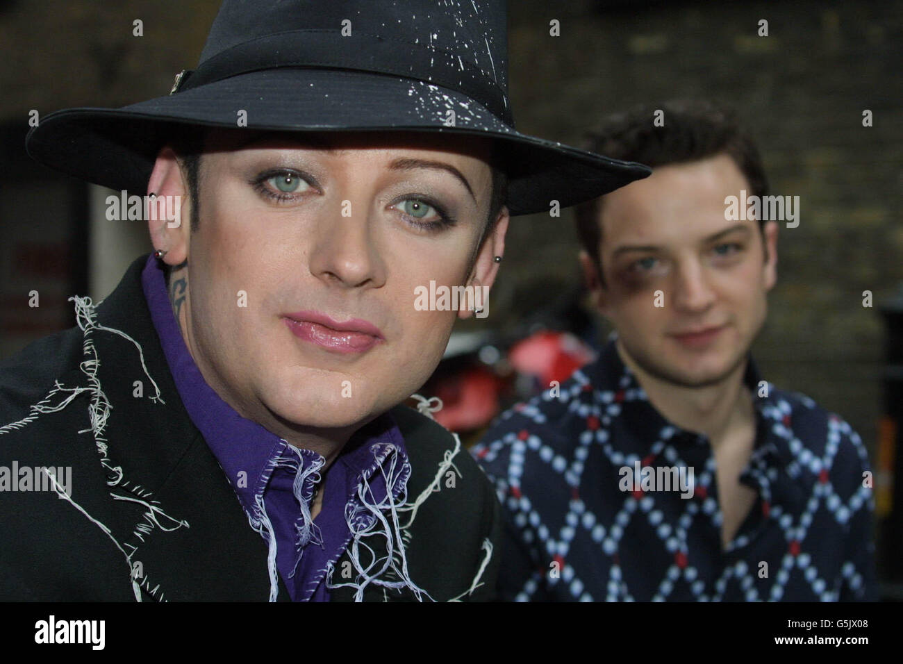
<svg viewBox="0 0 903 664"><path fill-rule="evenodd" d="M144 300L144 260L96 309L75 301L79 327L0 364L0 469L71 467L69 498L0 491L0 600L269 596L265 541L173 384ZM491 484L442 426L408 407L391 412L412 466L408 500L428 495L405 533L410 579L438 601L491 599L500 554ZM52 488L46 473L34 480ZM386 548L377 544L377 554ZM333 583L354 580L352 569L346 551ZM279 600L288 599L280 579ZM331 599L353 600L354 591ZM363 599L414 594L368 585Z"/></svg>

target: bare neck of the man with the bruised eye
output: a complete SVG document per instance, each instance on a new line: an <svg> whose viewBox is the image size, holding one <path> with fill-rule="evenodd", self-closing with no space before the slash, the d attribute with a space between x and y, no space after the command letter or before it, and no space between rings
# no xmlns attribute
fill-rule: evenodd
<svg viewBox="0 0 903 664"><path fill-rule="evenodd" d="M746 360L717 383L688 388L653 376L638 366L620 341L616 345L621 361L633 371L656 410L675 426L706 435L712 447L753 422L752 395L743 384Z"/></svg>

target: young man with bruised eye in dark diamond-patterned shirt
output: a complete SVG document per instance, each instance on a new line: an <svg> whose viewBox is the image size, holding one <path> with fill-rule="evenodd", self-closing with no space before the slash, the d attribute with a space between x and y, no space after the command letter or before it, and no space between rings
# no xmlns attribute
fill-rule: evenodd
<svg viewBox="0 0 903 664"><path fill-rule="evenodd" d="M859 435L749 355L777 278L777 220L737 213L768 193L756 146L677 103L611 118L593 149L653 174L577 208L614 327L599 360L474 449L505 509L502 598L877 599Z"/></svg>

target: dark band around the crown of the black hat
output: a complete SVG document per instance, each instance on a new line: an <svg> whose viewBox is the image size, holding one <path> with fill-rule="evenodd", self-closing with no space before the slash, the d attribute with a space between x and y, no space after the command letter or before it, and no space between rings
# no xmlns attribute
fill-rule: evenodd
<svg viewBox="0 0 903 664"><path fill-rule="evenodd" d="M514 127L507 95L488 72L449 51L372 34L345 37L334 30L293 30L266 35L202 61L198 69L185 73L177 89L277 67L357 70L421 80L467 95Z"/></svg>

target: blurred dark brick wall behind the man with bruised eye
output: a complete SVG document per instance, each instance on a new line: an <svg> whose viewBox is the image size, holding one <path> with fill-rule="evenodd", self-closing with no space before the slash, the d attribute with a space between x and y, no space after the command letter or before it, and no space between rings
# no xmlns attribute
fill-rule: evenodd
<svg viewBox="0 0 903 664"><path fill-rule="evenodd" d="M614 4L619 5L619 4ZM605 114L676 97L740 110L773 193L800 196L778 241L778 285L754 352L763 374L814 397L870 446L880 413L877 304L903 280L903 3L510 3L518 128L580 141ZM549 36L549 21L561 36ZM759 20L768 37L759 37ZM873 126L862 126L862 110ZM570 215L514 220L499 298L537 266L577 278ZM876 307L863 308L862 291ZM496 300L493 317L506 315Z"/></svg>

